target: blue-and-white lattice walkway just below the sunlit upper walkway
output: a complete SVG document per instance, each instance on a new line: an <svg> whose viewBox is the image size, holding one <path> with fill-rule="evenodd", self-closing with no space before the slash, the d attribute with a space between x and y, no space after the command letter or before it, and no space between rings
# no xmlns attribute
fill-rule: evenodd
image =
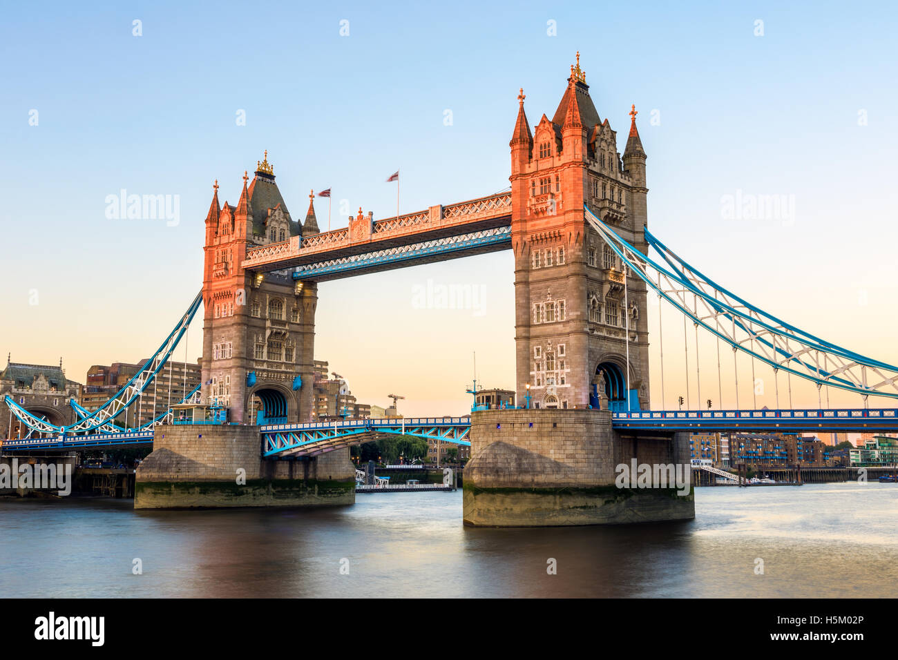
<svg viewBox="0 0 898 660"><path fill-rule="evenodd" d="M385 250L353 254L326 261L297 266L294 279L321 279L352 270L365 268L413 266L414 262L428 258L453 255L462 257L465 252L484 249L503 249L511 246L511 226L494 227L477 232L460 233L432 241L409 243ZM410 262L410 263L405 263Z"/></svg>

